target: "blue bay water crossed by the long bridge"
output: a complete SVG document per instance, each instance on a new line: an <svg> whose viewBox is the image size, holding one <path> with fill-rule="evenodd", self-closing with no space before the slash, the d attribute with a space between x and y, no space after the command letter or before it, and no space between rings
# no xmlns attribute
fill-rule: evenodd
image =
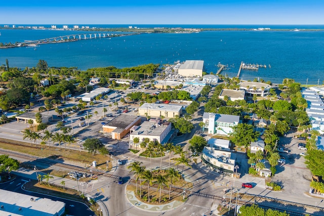
<svg viewBox="0 0 324 216"><path fill-rule="evenodd" d="M323 26L221 26L181 27L324 28ZM3 43L71 34L89 34L89 32L83 31L39 29L0 29L0 33L0 42ZM148 63L172 64L177 60L204 60L207 72L216 72L217 64L220 62L228 65L228 70L224 70L222 74L232 77L237 75L240 62L245 62L265 64L267 68L260 68L258 71L242 70L240 74L242 79L257 77L280 83L282 79L289 77L304 84L306 82L321 84L324 80L323 50L324 31L150 33L111 39L96 38L60 44L45 44L40 45L36 50L26 47L0 49L0 64L5 64L8 59L10 67L34 67L39 59L43 59L48 62L49 66L74 66L81 70L87 70L88 68L111 65L123 68Z"/></svg>

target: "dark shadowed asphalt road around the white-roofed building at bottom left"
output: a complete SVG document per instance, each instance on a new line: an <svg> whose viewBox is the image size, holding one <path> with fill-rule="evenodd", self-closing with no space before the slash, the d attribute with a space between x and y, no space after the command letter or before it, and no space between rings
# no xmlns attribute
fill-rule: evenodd
<svg viewBox="0 0 324 216"><path fill-rule="evenodd" d="M0 184L0 189L13 191L16 193L21 193L21 194L26 194L26 195L31 195L31 196L35 196L35 197L40 197L40 198L48 198L48 199L51 199L54 201L64 202L65 203L65 211L69 215L75 215L75 216L96 215L84 203L67 200L67 199L63 199L63 198L59 198L59 197L48 196L48 195L44 195L44 194L38 194L38 193L34 193L34 192L24 191L23 189L21 189L21 186L25 183L25 181L23 181L23 180L27 181L27 179L17 176L16 179L12 180L11 182ZM17 203L17 205L19 205L19 203Z"/></svg>

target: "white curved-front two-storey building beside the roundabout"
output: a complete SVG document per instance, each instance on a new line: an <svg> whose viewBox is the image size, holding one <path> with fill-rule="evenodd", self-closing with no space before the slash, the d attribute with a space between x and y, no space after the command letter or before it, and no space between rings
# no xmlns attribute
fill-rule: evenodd
<svg viewBox="0 0 324 216"><path fill-rule="evenodd" d="M220 151L211 147L204 147L201 160L210 169L233 177L236 154L228 151Z"/></svg>

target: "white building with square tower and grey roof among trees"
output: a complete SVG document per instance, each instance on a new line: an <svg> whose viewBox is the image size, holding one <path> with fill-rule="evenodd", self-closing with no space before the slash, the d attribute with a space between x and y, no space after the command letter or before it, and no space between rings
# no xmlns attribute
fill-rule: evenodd
<svg viewBox="0 0 324 216"><path fill-rule="evenodd" d="M240 123L240 120L238 115L204 112L203 122L205 127L208 127L208 134L228 136L233 132L233 126Z"/></svg>

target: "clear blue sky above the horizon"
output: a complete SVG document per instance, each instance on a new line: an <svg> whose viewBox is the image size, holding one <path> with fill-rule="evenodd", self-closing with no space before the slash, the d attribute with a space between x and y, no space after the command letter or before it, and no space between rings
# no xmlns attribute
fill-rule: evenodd
<svg viewBox="0 0 324 216"><path fill-rule="evenodd" d="M324 24L323 8L322 0L15 0L1 3L0 23Z"/></svg>

